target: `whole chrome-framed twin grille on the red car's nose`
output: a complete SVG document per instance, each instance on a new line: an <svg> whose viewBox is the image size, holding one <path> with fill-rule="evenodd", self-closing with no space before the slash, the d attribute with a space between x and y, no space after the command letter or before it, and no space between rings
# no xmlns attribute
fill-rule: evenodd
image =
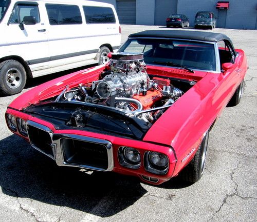
<svg viewBox="0 0 257 222"><path fill-rule="evenodd" d="M113 147L105 139L76 134L53 133L44 125L27 121L28 136L33 148L56 161L58 166L112 171Z"/></svg>

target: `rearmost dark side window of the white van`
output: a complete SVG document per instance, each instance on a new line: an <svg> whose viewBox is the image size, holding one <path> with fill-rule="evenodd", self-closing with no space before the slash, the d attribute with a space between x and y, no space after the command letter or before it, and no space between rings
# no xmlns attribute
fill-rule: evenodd
<svg viewBox="0 0 257 222"><path fill-rule="evenodd" d="M116 23L112 8L83 6L86 23Z"/></svg>

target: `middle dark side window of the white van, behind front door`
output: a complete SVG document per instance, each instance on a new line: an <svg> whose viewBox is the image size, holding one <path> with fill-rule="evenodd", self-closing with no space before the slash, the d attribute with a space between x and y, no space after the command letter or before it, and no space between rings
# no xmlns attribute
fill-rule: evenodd
<svg viewBox="0 0 257 222"><path fill-rule="evenodd" d="M46 4L46 11L50 25L82 24L79 6Z"/></svg>

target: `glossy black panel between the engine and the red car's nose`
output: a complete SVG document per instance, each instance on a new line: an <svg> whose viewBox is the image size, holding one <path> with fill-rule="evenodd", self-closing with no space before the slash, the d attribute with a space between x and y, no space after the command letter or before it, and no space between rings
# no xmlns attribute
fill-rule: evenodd
<svg viewBox="0 0 257 222"><path fill-rule="evenodd" d="M83 127L70 125L72 114L78 109L83 115ZM82 130L138 140L152 126L137 117L126 116L122 111L102 106L96 108L86 103L44 102L31 105L23 112L53 124L58 130Z"/></svg>

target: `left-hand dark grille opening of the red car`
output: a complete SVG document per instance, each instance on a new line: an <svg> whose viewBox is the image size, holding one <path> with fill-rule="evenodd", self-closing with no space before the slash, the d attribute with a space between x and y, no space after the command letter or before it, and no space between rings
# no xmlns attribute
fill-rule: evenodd
<svg viewBox="0 0 257 222"><path fill-rule="evenodd" d="M52 149L52 139L50 134L31 125L27 125L27 127L28 136L32 147L53 158L54 150Z"/></svg>

